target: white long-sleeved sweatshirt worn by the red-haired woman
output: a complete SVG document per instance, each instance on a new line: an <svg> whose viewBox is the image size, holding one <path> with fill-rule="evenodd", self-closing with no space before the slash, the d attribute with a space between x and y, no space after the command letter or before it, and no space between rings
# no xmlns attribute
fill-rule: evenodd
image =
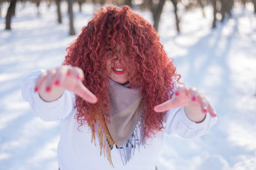
<svg viewBox="0 0 256 170"><path fill-rule="evenodd" d="M148 139L144 147L136 148L131 160L124 166L120 152L113 147L111 158L113 168L104 154L100 156L99 139L96 137L96 146L92 143L90 128L83 126L77 130L79 124L74 118L76 100L74 93L65 91L58 100L44 102L38 93L34 92L35 81L44 70L37 70L25 77L22 81L22 96L29 102L31 109L44 121L61 121L60 142L58 144L58 164L61 170L154 170L157 155L165 134L178 134L181 137L198 137L210 130L217 118L212 118L209 113L202 123L189 120L183 107L170 109L164 118L164 130L153 139Z"/></svg>

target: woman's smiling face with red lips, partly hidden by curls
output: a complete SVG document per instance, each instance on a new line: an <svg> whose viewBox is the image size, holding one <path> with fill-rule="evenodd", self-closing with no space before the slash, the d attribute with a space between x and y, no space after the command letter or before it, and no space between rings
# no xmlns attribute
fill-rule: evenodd
<svg viewBox="0 0 256 170"><path fill-rule="evenodd" d="M114 63L111 62L111 58L108 58L106 64L109 72L109 78L119 84L125 84L128 82L127 78L125 77L127 70L125 70L124 66L120 64L121 56L118 52L119 49L120 46L117 46L114 55ZM109 52L109 55L111 56L111 52Z"/></svg>

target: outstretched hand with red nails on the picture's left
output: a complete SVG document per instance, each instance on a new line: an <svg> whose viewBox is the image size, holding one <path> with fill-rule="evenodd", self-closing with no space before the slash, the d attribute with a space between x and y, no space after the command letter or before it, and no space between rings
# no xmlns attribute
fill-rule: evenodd
<svg viewBox="0 0 256 170"><path fill-rule="evenodd" d="M41 73L36 80L35 92L46 102L52 102L67 89L91 104L97 103L97 97L83 85L83 80L84 73L81 68L60 66Z"/></svg>

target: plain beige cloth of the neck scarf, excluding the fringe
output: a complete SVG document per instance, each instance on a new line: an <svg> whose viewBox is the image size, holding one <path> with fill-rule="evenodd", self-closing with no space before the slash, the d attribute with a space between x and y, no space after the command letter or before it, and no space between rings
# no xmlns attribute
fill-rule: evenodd
<svg viewBox="0 0 256 170"><path fill-rule="evenodd" d="M141 94L139 89L129 88L130 84L122 86L111 79L109 82L111 84L111 87L108 87L111 111L109 112L110 123L106 124L113 142L121 146L131 137L140 120Z"/></svg>

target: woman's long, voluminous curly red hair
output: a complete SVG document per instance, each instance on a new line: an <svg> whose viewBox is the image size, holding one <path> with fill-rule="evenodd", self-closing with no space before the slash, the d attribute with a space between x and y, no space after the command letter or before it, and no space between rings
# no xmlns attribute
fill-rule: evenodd
<svg viewBox="0 0 256 170"><path fill-rule="evenodd" d="M67 48L63 65L78 66L84 72L83 84L97 96L89 104L76 96L79 125L94 125L109 118L109 73L106 60L115 62L116 45L120 45L121 63L131 88L139 88L143 98L143 133L152 137L163 129L166 112L154 112L154 106L172 98L175 84L180 83L172 60L159 42L154 27L133 12L129 6L107 6L96 12L81 34ZM102 116L103 115L103 116Z"/></svg>

